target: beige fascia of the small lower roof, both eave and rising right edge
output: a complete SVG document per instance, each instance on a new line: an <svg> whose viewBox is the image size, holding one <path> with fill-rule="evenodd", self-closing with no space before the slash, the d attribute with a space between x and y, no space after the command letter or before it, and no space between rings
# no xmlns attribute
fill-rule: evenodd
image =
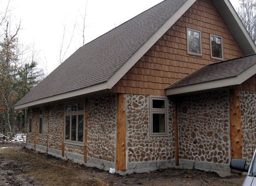
<svg viewBox="0 0 256 186"><path fill-rule="evenodd" d="M202 83L190 84L186 86L178 86L173 88L166 89L166 95L177 95L177 94L185 94L190 92L198 92L204 91L209 89L216 89L225 86L232 86L232 85L240 85L250 77L256 74L256 64L251 66L246 71L242 72L241 74L229 78L218 79L213 81L206 81Z"/></svg>

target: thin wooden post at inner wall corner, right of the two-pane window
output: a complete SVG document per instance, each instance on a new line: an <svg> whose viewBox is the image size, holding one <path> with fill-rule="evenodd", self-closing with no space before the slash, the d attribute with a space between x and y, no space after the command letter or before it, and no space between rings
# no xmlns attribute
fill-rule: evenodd
<svg viewBox="0 0 256 186"><path fill-rule="evenodd" d="M174 101L174 139L175 139L175 165L179 165L179 138L178 138L178 117L177 101Z"/></svg>

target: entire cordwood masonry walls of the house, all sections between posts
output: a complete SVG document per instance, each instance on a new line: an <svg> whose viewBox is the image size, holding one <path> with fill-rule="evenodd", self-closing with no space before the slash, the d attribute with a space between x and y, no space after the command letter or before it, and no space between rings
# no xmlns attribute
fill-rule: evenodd
<svg viewBox="0 0 256 186"><path fill-rule="evenodd" d="M168 97L168 134L165 137L150 136L150 96L125 94L126 171L123 173L147 172L175 166L173 99L177 101L179 167L205 169L227 175L230 172L230 95L228 89L178 98ZM116 94L88 98L87 104L86 163L84 162L84 146L64 144L64 157L61 155L64 131L63 104L44 107L42 136L36 134L38 109L33 109L32 134L27 135L27 147L48 152L57 157L69 158L78 163L85 163L87 166L96 166L106 170L115 168ZM255 92L241 91L243 157L251 155L252 148L254 148L251 140L256 140L254 131L251 136L252 128L248 120L248 117L256 120L255 104ZM254 109L247 109L248 106Z"/></svg>

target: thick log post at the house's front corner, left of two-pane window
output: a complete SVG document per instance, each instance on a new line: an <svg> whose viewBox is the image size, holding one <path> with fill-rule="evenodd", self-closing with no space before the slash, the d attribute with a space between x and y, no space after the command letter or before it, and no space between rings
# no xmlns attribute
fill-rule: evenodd
<svg viewBox="0 0 256 186"><path fill-rule="evenodd" d="M126 170L125 94L117 94L116 170Z"/></svg>

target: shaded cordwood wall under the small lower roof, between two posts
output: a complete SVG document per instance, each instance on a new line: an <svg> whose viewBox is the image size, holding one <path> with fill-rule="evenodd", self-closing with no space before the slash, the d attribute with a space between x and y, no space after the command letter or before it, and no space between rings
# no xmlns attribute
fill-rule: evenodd
<svg viewBox="0 0 256 186"><path fill-rule="evenodd" d="M229 91L198 93L179 100L180 166L230 172Z"/></svg>

